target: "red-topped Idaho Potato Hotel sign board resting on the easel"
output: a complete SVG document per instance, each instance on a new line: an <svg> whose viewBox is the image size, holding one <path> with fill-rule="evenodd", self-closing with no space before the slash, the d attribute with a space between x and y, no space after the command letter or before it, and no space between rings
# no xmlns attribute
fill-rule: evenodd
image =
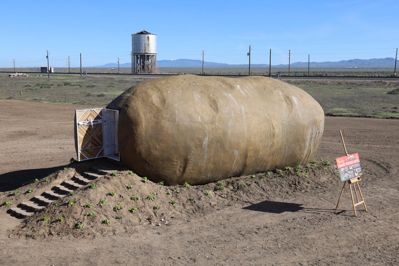
<svg viewBox="0 0 399 266"><path fill-rule="evenodd" d="M358 153L337 158L335 161L337 162L341 181L346 181L363 175Z"/></svg>

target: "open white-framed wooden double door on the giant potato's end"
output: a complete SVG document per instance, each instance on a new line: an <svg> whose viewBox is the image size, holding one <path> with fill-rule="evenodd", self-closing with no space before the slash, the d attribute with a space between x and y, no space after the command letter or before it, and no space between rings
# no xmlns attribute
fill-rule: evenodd
<svg viewBox="0 0 399 266"><path fill-rule="evenodd" d="M108 157L119 161L119 111L107 108L75 110L78 161Z"/></svg>

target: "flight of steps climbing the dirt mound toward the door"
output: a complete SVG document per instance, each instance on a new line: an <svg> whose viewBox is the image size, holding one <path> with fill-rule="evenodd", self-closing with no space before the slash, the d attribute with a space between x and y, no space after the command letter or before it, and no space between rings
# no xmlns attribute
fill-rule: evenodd
<svg viewBox="0 0 399 266"><path fill-rule="evenodd" d="M17 218L29 217L35 212L46 208L51 203L54 203L55 201L68 196L77 189L88 185L93 180L118 171L102 166L94 166L92 167L92 170L93 171L83 172L83 176L79 173L75 173L70 180L63 181L60 185L56 185L50 190L44 191L39 196L34 196L27 202L21 202L16 207L8 209L7 213Z"/></svg>

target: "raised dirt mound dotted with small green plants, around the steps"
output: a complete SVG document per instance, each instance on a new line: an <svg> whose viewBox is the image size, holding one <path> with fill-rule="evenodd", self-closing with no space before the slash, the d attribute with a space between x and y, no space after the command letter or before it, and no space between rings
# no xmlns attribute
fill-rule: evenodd
<svg viewBox="0 0 399 266"><path fill-rule="evenodd" d="M92 166L93 161L72 163L48 178L25 185L18 189L20 193L7 195L5 200L11 204L1 209L40 195L76 173L83 175ZM143 227L169 226L176 219L192 219L237 202L254 203L276 196L288 198L314 187L328 187L336 179L335 164L322 158L295 168L233 177L202 186L164 186L120 169L103 173L54 201L24 219L10 234L33 239L121 236ZM29 193L29 189L33 192Z"/></svg>

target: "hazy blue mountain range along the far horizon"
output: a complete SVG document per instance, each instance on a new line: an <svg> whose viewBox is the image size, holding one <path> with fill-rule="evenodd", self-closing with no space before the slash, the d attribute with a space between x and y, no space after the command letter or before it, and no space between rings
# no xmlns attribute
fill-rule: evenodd
<svg viewBox="0 0 399 266"><path fill-rule="evenodd" d="M318 68L393 68L395 66L395 58L374 58L374 59L351 59L342 60L338 62L310 62L310 67ZM215 62L203 62L203 66L207 68L246 68L248 64L225 64ZM97 65L93 67L107 67L116 68L118 64L108 63L105 65ZM132 67L131 63L120 64L119 67ZM201 68L201 60L192 59L176 59L176 60L160 60L157 61L157 67L176 67L176 68ZM251 68L268 68L268 64L251 64ZM288 64L272 65L274 68L287 68ZM293 68L307 68L308 62L291 63ZM397 60L397 67L399 67L399 60Z"/></svg>

